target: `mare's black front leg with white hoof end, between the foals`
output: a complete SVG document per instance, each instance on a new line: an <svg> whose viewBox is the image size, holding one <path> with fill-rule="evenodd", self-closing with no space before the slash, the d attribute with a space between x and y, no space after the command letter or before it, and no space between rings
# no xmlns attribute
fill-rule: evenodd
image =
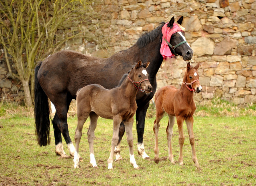
<svg viewBox="0 0 256 186"><path fill-rule="evenodd" d="M148 110L149 102L142 108L138 108L136 110L136 129L138 135L138 154L143 159L150 159L150 157L146 154L143 144L143 134L144 134L144 127L145 127L145 118L146 113Z"/></svg>

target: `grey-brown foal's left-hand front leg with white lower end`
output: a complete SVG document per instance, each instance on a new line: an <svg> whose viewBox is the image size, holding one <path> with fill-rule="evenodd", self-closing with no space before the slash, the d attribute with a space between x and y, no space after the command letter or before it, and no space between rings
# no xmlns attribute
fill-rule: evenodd
<svg viewBox="0 0 256 186"><path fill-rule="evenodd" d="M119 115L116 115L113 117L113 137L111 142L111 151L108 158L108 169L113 169L113 165L112 165L113 155L114 155L114 149L118 142L118 131L119 131L121 121L122 121L122 118Z"/></svg>

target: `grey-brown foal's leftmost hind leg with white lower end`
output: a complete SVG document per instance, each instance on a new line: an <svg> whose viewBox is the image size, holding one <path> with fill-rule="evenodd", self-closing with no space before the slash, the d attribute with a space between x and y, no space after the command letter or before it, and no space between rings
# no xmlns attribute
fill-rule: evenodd
<svg viewBox="0 0 256 186"><path fill-rule="evenodd" d="M78 164L79 164L79 143L82 137L82 129L84 126L84 122L86 121L86 119L89 116L89 112L85 113L85 114L78 114L77 116L77 126L76 126L76 132L75 132L75 143L76 143L76 152L74 155L74 168L78 168ZM90 127L89 127L90 128Z"/></svg>

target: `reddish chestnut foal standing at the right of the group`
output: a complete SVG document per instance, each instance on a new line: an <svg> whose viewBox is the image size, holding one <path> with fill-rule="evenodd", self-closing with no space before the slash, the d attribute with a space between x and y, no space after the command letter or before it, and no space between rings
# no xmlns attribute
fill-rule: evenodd
<svg viewBox="0 0 256 186"><path fill-rule="evenodd" d="M158 149L158 131L159 131L159 122L164 117L166 112L169 116L168 125L166 128L167 134L167 144L168 152L171 163L174 163L172 155L172 127L174 125L174 117L177 119L178 129L179 129L179 144L180 144L180 157L179 163L183 165L183 155L182 147L184 144L184 135L183 135L183 122L186 121L188 136L190 145L192 148L192 160L199 166L196 158L195 150L195 137L193 133L193 114L196 110L196 105L193 100L194 92L201 92L202 86L199 82L199 75L197 69L199 63L196 67L190 67L190 63L187 64L187 71L185 72L183 83L180 89L176 89L174 86L164 86L156 92L155 104L156 104L156 120L154 121L154 133L155 133L155 163L159 162L159 149Z"/></svg>

